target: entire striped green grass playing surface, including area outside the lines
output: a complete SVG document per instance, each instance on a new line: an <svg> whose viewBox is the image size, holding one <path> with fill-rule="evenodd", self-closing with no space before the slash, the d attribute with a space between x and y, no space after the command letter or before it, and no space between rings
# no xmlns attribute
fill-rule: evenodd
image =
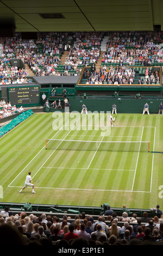
<svg viewBox="0 0 163 256"><path fill-rule="evenodd" d="M163 207L159 196L163 186L163 154L141 150L150 142L151 151L163 151L163 115L117 114L109 136L101 130L53 130L53 113L35 113L1 138L1 202L100 206L149 209ZM46 139L60 139L56 145ZM68 148L61 147L65 140ZM73 142L73 141L85 141ZM99 147L92 143L98 141ZM102 141L121 142L115 150L103 150ZM122 142L136 146L118 148ZM82 145L82 147L78 147ZM132 144L132 143L131 143ZM91 148L92 147L92 148ZM127 150L126 150L127 149ZM148 148L147 148L148 149ZM32 188L24 186L28 172L40 179Z"/></svg>

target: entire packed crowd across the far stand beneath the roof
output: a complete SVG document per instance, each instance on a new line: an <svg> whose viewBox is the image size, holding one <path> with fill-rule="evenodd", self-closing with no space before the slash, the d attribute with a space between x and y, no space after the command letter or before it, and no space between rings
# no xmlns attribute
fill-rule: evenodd
<svg viewBox="0 0 163 256"><path fill-rule="evenodd" d="M24 64L28 64L35 76L79 75L83 66L93 64L96 66L105 34L109 36L106 51L102 57L102 63L105 66L116 64L123 68L124 64L152 66L162 63L163 68L163 34L161 31L51 32L39 33L37 40L25 40L22 39L20 33L16 33L14 38L0 38L0 44L3 45L3 53L0 56L0 84L12 83L10 80L13 77L19 78L18 81L15 80L15 83L28 82L28 71L11 66L11 58L21 59ZM64 70L58 69L62 53L65 50L65 41L69 36L75 44L67 46L69 53L65 59ZM125 74L123 78L118 79L120 83L124 83L126 80L127 84L132 84L133 74L129 76ZM5 83L4 80L6 80ZM154 82L153 78L145 80L146 83ZM99 82L102 83L102 79ZM155 82L158 82L157 78L155 78ZM117 83L117 77L114 81L109 78L109 83Z"/></svg>

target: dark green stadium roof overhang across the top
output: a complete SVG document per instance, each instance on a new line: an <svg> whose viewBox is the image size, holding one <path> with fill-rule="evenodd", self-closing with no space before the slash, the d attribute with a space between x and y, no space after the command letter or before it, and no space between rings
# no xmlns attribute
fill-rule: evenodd
<svg viewBox="0 0 163 256"><path fill-rule="evenodd" d="M162 0L4 0L1 21L15 32L163 30Z"/></svg>

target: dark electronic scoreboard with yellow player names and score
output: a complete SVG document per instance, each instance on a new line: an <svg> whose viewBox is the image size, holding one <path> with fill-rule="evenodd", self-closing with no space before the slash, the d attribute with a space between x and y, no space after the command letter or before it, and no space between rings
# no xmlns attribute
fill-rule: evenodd
<svg viewBox="0 0 163 256"><path fill-rule="evenodd" d="M11 105L39 106L40 105L40 87L39 86L8 87L8 100L11 102Z"/></svg>

